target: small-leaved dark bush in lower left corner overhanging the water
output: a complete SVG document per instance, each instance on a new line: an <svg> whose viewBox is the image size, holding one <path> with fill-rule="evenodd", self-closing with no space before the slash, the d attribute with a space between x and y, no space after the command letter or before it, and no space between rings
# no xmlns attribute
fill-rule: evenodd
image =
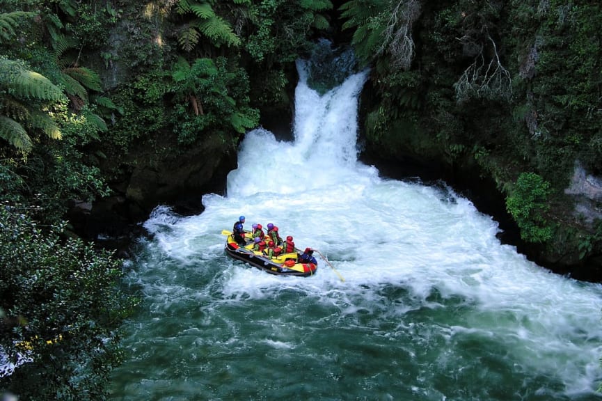
<svg viewBox="0 0 602 401"><path fill-rule="evenodd" d="M120 262L62 235L62 225L42 230L0 207L0 345L33 359L0 387L23 400L104 400L122 358L116 328L134 300L118 288Z"/></svg>

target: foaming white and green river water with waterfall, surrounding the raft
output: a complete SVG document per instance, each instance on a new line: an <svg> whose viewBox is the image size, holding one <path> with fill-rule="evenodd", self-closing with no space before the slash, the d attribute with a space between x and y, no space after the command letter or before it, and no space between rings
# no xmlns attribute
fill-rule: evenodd
<svg viewBox="0 0 602 401"><path fill-rule="evenodd" d="M602 400L602 287L500 244L452 189L358 162L367 72L319 95L298 70L293 141L248 132L227 196L145 222L111 399ZM239 215L328 262L296 278L227 258Z"/></svg>

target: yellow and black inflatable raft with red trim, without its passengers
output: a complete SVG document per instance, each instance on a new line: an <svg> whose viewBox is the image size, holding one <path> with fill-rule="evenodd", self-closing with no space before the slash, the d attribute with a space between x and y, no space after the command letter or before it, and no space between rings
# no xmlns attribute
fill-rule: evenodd
<svg viewBox="0 0 602 401"><path fill-rule="evenodd" d="M247 239L247 241L250 242L251 239ZM307 277L315 274L317 270L317 265L313 263L300 263L299 253L282 253L274 258L269 258L261 251L253 251L252 242L246 246L240 246L231 234L225 239L225 254L232 259L241 260L264 272L278 276Z"/></svg>

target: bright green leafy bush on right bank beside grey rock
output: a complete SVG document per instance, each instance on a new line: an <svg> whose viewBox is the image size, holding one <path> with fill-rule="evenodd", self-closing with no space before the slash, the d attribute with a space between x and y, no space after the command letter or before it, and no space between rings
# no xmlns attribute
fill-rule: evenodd
<svg viewBox="0 0 602 401"><path fill-rule="evenodd" d="M544 215L549 210L550 183L536 173L521 173L506 197L506 209L527 242L546 242L552 228Z"/></svg>

